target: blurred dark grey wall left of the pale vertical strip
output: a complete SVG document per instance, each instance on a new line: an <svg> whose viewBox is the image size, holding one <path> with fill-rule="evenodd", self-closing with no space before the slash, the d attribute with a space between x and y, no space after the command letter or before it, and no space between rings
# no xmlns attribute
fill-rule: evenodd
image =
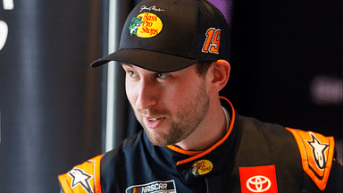
<svg viewBox="0 0 343 193"><path fill-rule="evenodd" d="M58 174L101 153L101 9L0 1L1 192L58 192Z"/></svg>

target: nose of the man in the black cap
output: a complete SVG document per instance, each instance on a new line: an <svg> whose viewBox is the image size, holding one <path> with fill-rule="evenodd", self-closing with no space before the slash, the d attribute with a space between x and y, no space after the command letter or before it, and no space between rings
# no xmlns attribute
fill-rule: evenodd
<svg viewBox="0 0 343 193"><path fill-rule="evenodd" d="M137 90L136 105L138 109L147 109L157 104L158 86L150 80L141 80Z"/></svg>

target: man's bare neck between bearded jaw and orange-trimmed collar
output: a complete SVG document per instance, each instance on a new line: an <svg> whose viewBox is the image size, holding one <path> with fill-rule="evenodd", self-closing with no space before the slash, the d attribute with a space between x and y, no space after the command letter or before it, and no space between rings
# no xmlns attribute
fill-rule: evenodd
<svg viewBox="0 0 343 193"><path fill-rule="evenodd" d="M189 151L203 151L212 147L227 132L227 120L219 97L210 99L210 107L205 119L192 134L175 144Z"/></svg>

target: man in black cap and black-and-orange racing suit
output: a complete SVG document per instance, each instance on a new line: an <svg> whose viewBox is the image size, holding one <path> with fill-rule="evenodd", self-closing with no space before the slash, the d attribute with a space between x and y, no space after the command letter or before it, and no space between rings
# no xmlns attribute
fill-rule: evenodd
<svg viewBox="0 0 343 193"><path fill-rule="evenodd" d="M334 139L239 116L219 96L230 26L205 0L143 0L121 32L144 131L59 176L61 192L339 192Z"/></svg>

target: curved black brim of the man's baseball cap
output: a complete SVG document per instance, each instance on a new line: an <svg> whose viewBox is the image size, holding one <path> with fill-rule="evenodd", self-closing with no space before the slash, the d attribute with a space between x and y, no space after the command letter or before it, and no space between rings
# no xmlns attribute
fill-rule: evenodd
<svg viewBox="0 0 343 193"><path fill-rule="evenodd" d="M179 71L198 62L195 59L158 53L151 50L123 48L111 55L96 60L90 66L96 68L111 61L133 64L149 71L158 72Z"/></svg>

